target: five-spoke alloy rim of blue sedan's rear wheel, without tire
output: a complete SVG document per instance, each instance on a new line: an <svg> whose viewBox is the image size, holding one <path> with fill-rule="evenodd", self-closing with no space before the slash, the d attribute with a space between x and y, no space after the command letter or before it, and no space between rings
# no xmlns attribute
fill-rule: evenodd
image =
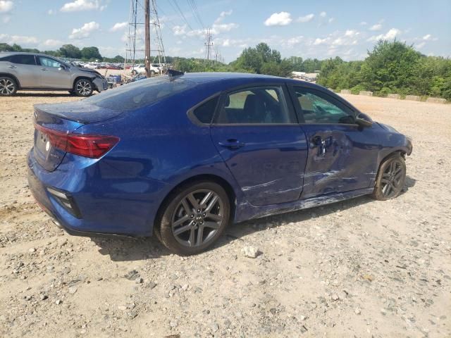
<svg viewBox="0 0 451 338"><path fill-rule="evenodd" d="M209 189L190 192L180 201L172 216L171 228L183 246L201 246L214 239L224 220L221 197Z"/></svg>

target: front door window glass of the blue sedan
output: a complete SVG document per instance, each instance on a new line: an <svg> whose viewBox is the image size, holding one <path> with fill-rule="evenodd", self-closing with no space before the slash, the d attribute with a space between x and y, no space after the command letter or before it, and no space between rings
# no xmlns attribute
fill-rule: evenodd
<svg viewBox="0 0 451 338"><path fill-rule="evenodd" d="M340 101L314 89L295 87L304 123L355 123L354 113Z"/></svg>

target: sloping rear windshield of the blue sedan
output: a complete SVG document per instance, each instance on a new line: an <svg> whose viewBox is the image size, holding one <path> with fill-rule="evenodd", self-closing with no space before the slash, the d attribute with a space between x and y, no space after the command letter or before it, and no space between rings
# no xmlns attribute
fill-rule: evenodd
<svg viewBox="0 0 451 338"><path fill-rule="evenodd" d="M180 77L153 77L124 84L83 101L113 111L132 111L154 104L168 96L191 89L196 84Z"/></svg>

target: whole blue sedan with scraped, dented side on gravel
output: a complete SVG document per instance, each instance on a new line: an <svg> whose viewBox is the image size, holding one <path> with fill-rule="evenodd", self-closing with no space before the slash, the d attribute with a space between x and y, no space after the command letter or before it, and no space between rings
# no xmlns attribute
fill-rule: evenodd
<svg viewBox="0 0 451 338"><path fill-rule="evenodd" d="M28 180L70 234L150 236L199 253L228 224L402 192L409 138L308 82L156 77L35 106Z"/></svg>

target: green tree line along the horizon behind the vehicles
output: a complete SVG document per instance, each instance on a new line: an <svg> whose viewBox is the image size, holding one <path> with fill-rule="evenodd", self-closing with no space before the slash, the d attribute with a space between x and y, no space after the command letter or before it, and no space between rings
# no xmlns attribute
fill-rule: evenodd
<svg viewBox="0 0 451 338"><path fill-rule="evenodd" d="M23 49L18 44L10 46L2 43L0 51L39 53L37 49ZM95 46L79 49L72 44L65 44L56 51L42 53L84 61L124 62L120 55L114 58L101 56ZM436 96L451 101L451 59L425 56L416 51L414 46L396 40L377 42L363 61L343 61L339 57L326 60L303 59L299 56L282 58L279 51L260 43L246 48L235 61L228 64L172 56L166 56L166 63L172 63L173 69L190 73L241 72L289 77L293 71L319 71L317 83L335 90L350 89L354 94L367 90L376 96L386 96L389 93Z"/></svg>

